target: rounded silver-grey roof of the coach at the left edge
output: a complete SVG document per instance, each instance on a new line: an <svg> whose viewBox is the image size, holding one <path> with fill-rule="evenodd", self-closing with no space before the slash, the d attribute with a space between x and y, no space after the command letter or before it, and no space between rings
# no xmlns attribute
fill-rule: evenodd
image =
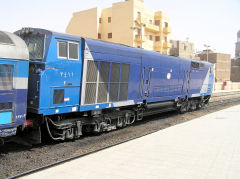
<svg viewBox="0 0 240 179"><path fill-rule="evenodd" d="M28 48L17 35L0 31L0 58L28 60Z"/></svg>

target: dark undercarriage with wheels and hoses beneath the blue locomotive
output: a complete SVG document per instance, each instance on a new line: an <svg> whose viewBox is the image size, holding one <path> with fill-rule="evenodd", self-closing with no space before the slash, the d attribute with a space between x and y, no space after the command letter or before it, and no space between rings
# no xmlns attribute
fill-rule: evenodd
<svg viewBox="0 0 240 179"><path fill-rule="evenodd" d="M104 109L74 114L31 116L26 122L24 138L31 144L42 142L45 131L51 140L79 139L84 133L101 133L120 129L142 120L144 116L177 110L180 113L194 111L208 104L210 96L176 99L114 109ZM38 120L36 120L38 118ZM44 136L46 137L46 135Z"/></svg>

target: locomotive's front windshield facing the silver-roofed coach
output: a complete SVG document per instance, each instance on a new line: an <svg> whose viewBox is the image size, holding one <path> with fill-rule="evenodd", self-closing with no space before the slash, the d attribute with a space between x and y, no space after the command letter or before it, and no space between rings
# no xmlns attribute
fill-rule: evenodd
<svg viewBox="0 0 240 179"><path fill-rule="evenodd" d="M28 46L29 58L31 60L41 61L44 53L45 35L27 34L21 37Z"/></svg>

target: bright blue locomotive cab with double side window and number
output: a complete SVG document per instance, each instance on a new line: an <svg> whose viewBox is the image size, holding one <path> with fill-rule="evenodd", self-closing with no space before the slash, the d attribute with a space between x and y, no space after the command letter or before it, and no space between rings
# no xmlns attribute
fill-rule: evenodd
<svg viewBox="0 0 240 179"><path fill-rule="evenodd" d="M28 111L43 115L78 111L81 38L33 28L17 34L30 53Z"/></svg>

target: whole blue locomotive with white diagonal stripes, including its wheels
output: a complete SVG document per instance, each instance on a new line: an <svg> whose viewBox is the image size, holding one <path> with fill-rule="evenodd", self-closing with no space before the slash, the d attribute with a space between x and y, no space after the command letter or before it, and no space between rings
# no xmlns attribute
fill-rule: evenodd
<svg viewBox="0 0 240 179"><path fill-rule="evenodd" d="M207 62L44 29L16 34L29 50L26 124L35 143L41 126L54 140L74 139L144 115L201 108L212 94L213 65Z"/></svg>

